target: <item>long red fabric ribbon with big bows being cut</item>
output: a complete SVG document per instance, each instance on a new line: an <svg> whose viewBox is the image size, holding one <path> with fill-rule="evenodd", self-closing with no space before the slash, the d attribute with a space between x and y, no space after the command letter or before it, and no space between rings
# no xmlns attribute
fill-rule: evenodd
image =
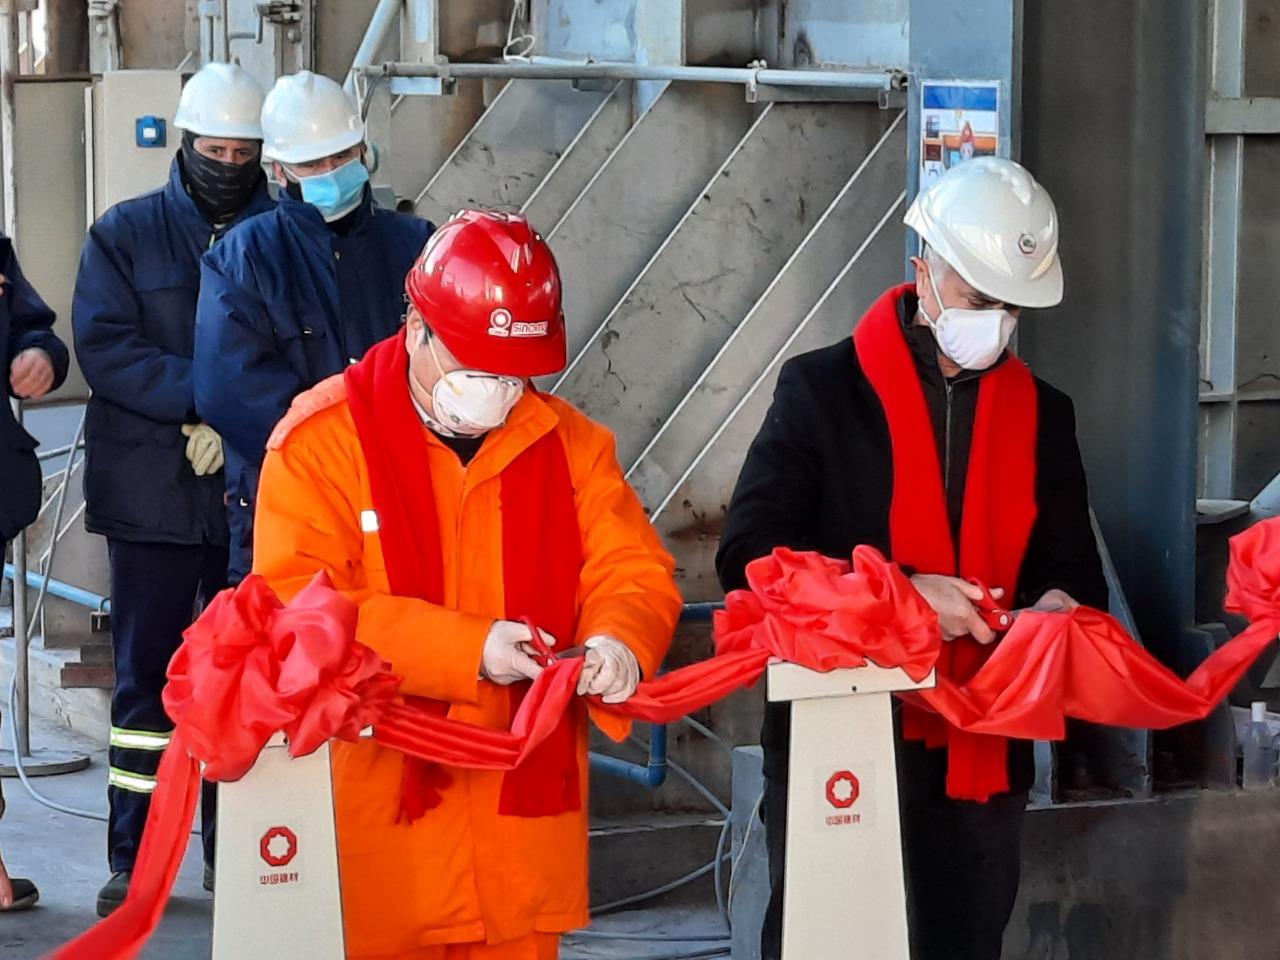
<svg viewBox="0 0 1280 960"><path fill-rule="evenodd" d="M625 704L593 710L655 723L673 721L755 682L774 657L812 669L901 667L923 680L941 650L937 618L910 581L876 550L852 563L780 549L748 570L750 591L730 594L717 614L716 657L640 685ZM965 684L940 677L913 694L961 730L1059 740L1068 717L1164 728L1203 718L1280 634L1280 518L1231 543L1228 609L1252 625L1185 681L1105 613L1024 613ZM355 641L356 607L324 575L282 604L251 576L220 594L186 635L169 667L165 705L177 723L160 767L133 883L124 905L61 947L56 960L137 956L168 900L198 794L192 758L210 780L244 774L283 730L303 755L325 740L374 739L431 763L474 769L518 767L558 726L575 699L581 659L558 660L532 685L511 730L448 719L393 696L398 682ZM198 692L197 692L198 691Z"/></svg>

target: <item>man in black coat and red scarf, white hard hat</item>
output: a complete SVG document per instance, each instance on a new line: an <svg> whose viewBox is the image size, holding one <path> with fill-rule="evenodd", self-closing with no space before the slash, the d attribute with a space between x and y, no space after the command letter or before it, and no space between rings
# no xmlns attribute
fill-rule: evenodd
<svg viewBox="0 0 1280 960"><path fill-rule="evenodd" d="M963 680L997 641L968 577L1014 609L1105 608L1107 588L1071 401L1006 349L1023 306L1061 301L1052 200L1018 164L984 157L947 172L906 221L925 244L915 283L886 292L852 339L782 369L717 570L733 590L777 547L842 558L876 547L937 612L940 669ZM1032 744L895 713L913 957L998 960ZM777 960L788 704L768 705L760 739L773 887L763 957Z"/></svg>

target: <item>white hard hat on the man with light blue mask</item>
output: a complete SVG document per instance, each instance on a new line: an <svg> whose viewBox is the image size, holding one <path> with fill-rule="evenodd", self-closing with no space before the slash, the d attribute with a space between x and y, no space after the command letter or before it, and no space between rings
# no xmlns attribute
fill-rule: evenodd
<svg viewBox="0 0 1280 960"><path fill-rule="evenodd" d="M262 156L305 164L365 140L356 105L328 77L302 70L280 77L262 104Z"/></svg>

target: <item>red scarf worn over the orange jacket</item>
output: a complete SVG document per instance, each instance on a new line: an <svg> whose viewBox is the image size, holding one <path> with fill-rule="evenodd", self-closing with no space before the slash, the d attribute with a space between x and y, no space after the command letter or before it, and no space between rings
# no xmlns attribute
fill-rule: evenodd
<svg viewBox="0 0 1280 960"><path fill-rule="evenodd" d="M379 536L390 590L444 603L444 558L431 495L426 428L408 392L403 334L383 340L346 374L347 402L369 465ZM502 582L507 620L529 618L571 643L577 626L582 568L573 484L564 444L553 430L517 456L500 475ZM465 549L462 544L460 549ZM511 717L529 684L511 690ZM410 698L439 714L448 704ZM566 713L556 732L529 760L503 777L499 813L544 817L581 806L577 714ZM406 758L401 815L413 820L440 801L449 776Z"/></svg>

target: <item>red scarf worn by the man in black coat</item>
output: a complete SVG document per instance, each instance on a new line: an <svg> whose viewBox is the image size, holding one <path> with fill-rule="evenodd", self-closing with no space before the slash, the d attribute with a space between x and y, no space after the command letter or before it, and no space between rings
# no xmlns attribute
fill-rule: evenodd
<svg viewBox="0 0 1280 960"><path fill-rule="evenodd" d="M1036 381L1012 356L980 380L957 567L933 421L899 316L908 293L915 293L913 284L884 293L854 330L858 361L884 408L893 449L892 558L922 573L1002 586L1011 600L1037 515ZM964 684L993 649L959 637L945 645L938 671ZM905 708L902 730L911 740L947 748L948 796L986 801L1009 790L1006 739L966 733L911 707Z"/></svg>

